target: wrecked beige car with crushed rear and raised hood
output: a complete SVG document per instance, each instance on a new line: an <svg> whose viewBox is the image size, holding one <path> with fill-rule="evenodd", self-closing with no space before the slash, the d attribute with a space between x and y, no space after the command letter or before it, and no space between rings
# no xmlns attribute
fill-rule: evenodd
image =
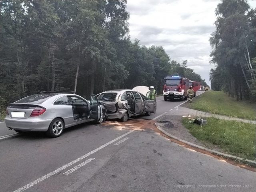
<svg viewBox="0 0 256 192"><path fill-rule="evenodd" d="M140 86L140 89L109 90L96 96L106 109L107 119L117 118L124 122L134 116L156 113L154 91L145 86Z"/></svg>

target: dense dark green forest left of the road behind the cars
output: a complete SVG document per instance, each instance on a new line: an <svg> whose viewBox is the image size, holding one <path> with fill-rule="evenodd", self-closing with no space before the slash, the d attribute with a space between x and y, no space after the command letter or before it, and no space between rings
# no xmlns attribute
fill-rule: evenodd
<svg viewBox="0 0 256 192"><path fill-rule="evenodd" d="M1 0L0 106L40 91L89 98L111 89L155 86L200 75L129 36L126 0ZM248 42L249 43L249 42Z"/></svg>

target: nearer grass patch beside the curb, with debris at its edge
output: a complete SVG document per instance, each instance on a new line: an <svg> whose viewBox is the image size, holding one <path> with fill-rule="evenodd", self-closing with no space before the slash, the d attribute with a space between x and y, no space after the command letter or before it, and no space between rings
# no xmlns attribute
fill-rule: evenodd
<svg viewBox="0 0 256 192"><path fill-rule="evenodd" d="M213 144L228 154L256 160L256 125L230 120L207 118L207 124L199 126L189 123L187 118L182 123L192 136L198 140Z"/></svg>

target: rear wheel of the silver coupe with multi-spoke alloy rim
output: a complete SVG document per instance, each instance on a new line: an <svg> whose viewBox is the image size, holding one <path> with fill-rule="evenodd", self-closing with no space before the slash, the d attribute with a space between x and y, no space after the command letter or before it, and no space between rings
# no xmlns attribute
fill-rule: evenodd
<svg viewBox="0 0 256 192"><path fill-rule="evenodd" d="M64 122L62 119L56 118L51 122L46 134L51 138L56 138L63 133L64 128Z"/></svg>

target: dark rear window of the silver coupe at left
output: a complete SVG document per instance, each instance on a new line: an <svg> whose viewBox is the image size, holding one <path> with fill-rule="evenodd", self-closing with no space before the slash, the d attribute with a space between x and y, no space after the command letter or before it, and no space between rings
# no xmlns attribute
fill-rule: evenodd
<svg viewBox="0 0 256 192"><path fill-rule="evenodd" d="M36 94L36 95L30 95L23 99L20 99L16 101L15 103L31 103L31 104L41 104L44 101L48 100L52 96L56 94Z"/></svg>

